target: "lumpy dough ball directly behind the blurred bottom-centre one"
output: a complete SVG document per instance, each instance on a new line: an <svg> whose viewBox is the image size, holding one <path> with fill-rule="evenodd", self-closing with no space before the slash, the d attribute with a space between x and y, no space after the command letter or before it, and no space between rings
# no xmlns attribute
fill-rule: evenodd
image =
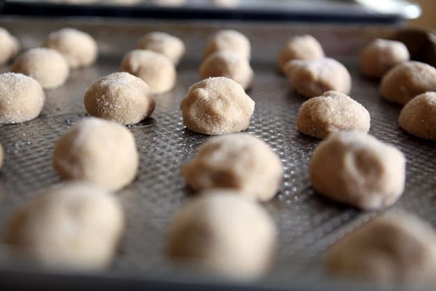
<svg viewBox="0 0 436 291"><path fill-rule="evenodd" d="M280 188L283 165L263 140L248 133L213 137L182 168L195 190L232 188L256 200L271 200Z"/></svg>

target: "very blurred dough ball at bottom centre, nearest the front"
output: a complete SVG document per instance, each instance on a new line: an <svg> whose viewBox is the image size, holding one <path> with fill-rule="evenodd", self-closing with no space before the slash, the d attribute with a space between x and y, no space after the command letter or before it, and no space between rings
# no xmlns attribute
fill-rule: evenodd
<svg viewBox="0 0 436 291"><path fill-rule="evenodd" d="M232 278L260 276L271 262L276 226L253 201L236 191L209 191L174 217L168 253Z"/></svg>

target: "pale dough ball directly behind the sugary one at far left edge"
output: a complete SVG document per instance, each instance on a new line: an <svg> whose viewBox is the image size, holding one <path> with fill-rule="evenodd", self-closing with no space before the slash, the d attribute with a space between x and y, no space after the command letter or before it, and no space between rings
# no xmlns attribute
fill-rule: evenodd
<svg viewBox="0 0 436 291"><path fill-rule="evenodd" d="M68 63L59 52L42 47L21 54L10 70L33 77L44 89L61 86L70 74Z"/></svg>

